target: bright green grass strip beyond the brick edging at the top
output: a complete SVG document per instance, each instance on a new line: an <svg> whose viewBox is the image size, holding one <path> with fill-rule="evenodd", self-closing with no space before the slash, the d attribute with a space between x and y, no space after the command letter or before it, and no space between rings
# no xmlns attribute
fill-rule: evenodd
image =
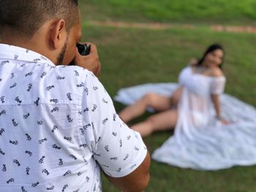
<svg viewBox="0 0 256 192"><path fill-rule="evenodd" d="M83 0L84 18L162 23L255 24L254 0Z"/></svg>

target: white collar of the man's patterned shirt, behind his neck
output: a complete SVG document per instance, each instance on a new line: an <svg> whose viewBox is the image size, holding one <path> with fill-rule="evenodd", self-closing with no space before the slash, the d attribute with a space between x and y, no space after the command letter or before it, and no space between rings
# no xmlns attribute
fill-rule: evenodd
<svg viewBox="0 0 256 192"><path fill-rule="evenodd" d="M50 59L34 52L33 50L27 50L22 47L7 44L0 44L0 59L26 61L33 64L46 63L50 64L51 66L55 66Z"/></svg>

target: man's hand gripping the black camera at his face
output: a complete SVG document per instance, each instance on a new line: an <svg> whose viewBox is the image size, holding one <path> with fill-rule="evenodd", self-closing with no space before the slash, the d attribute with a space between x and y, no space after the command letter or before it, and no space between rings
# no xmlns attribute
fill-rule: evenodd
<svg viewBox="0 0 256 192"><path fill-rule="evenodd" d="M82 44L86 44L83 42ZM89 71L93 72L97 77L99 77L99 72L101 69L101 64L99 62L99 55L97 53L96 45L89 43L91 50L89 55L80 55L77 50L75 55L74 63L76 66L81 66Z"/></svg>

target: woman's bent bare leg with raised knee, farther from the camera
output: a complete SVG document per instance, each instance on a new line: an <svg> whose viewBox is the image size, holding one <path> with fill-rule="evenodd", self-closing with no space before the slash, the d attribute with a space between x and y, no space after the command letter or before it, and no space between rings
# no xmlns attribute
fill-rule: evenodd
<svg viewBox="0 0 256 192"><path fill-rule="evenodd" d="M170 109L170 98L160 96L156 93L148 93L135 104L129 105L124 110L119 112L119 117L127 123L133 118L137 118L146 111L148 107L152 107L157 111L165 111Z"/></svg>

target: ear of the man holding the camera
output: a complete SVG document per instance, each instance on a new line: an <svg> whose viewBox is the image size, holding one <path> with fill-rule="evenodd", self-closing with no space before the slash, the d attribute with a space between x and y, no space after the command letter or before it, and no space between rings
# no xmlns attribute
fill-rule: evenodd
<svg viewBox="0 0 256 192"><path fill-rule="evenodd" d="M67 31L65 20L57 20L52 24L50 30L51 45L53 45L55 49L59 49L59 47L63 47L66 38Z"/></svg>

